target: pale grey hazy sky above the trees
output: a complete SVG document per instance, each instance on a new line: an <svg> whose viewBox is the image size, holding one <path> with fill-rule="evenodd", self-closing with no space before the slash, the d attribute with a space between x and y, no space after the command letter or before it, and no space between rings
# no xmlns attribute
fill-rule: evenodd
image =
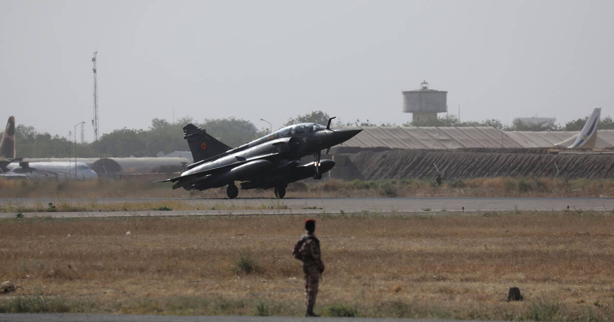
<svg viewBox="0 0 614 322"><path fill-rule="evenodd" d="M0 120L67 136L152 118L404 123L426 79L462 120L614 115L614 1L0 0ZM177 134L181 135L181 134Z"/></svg>

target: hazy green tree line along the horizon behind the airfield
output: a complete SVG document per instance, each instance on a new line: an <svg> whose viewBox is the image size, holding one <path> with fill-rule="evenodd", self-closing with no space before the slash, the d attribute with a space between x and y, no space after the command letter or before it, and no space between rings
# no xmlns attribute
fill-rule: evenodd
<svg viewBox="0 0 614 322"><path fill-rule="evenodd" d="M326 125L329 115L321 110L289 118L285 125L314 122ZM565 123L564 126L550 122L530 124L516 120L511 125L503 125L499 120L459 121L454 115L438 117L437 120L419 123L408 122L402 126L494 126L503 131L580 131L588 117L578 118ZM395 126L395 123L371 123L366 121L344 121L336 118L334 126ZM68 158L75 155L79 158L104 158L125 156L156 156L159 151L187 151L188 147L182 137L182 127L187 123L204 128L208 133L231 147L257 139L268 133L269 129L258 129L251 121L240 118L205 119L202 122L184 117L174 122L154 118L147 129L116 129L103 134L98 141L75 145L74 141L58 135L37 132L33 126L17 125L15 140L17 141L18 158ZM599 121L599 129L614 129L612 117ZM273 129L274 130L274 129ZM0 136L1 136L0 132Z"/></svg>

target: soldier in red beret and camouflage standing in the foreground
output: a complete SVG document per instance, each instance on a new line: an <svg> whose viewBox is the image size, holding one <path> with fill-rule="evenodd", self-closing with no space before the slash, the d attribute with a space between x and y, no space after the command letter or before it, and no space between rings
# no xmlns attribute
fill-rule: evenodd
<svg viewBox="0 0 614 322"><path fill-rule="evenodd" d="M316 230L316 221L305 220L305 230L307 234L303 235L294 245L292 256L303 262L305 305L307 306L305 316L319 316L313 313L313 306L316 304L317 286L320 282L320 274L324 272L324 263L322 263L320 253L320 241L313 234Z"/></svg>

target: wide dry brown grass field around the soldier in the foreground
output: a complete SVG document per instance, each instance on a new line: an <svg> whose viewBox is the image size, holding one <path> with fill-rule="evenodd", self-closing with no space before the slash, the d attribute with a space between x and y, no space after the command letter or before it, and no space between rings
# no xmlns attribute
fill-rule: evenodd
<svg viewBox="0 0 614 322"><path fill-rule="evenodd" d="M1 220L0 312L301 315L303 220ZM324 315L614 321L612 213L317 220Z"/></svg>

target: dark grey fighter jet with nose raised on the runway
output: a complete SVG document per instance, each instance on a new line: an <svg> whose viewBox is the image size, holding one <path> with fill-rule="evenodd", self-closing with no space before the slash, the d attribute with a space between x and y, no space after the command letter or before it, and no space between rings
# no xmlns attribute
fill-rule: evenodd
<svg viewBox="0 0 614 322"><path fill-rule="evenodd" d="M195 125L184 126L184 139L192 151L194 163L179 177L158 182L173 182L173 189L206 190L226 186L226 194L234 199L241 189L274 188L275 196L286 195L288 183L322 174L335 166L335 161L321 159L322 150L341 144L362 129L331 129L328 125L299 123L279 129L237 148L228 147ZM303 156L314 161L300 164Z"/></svg>

